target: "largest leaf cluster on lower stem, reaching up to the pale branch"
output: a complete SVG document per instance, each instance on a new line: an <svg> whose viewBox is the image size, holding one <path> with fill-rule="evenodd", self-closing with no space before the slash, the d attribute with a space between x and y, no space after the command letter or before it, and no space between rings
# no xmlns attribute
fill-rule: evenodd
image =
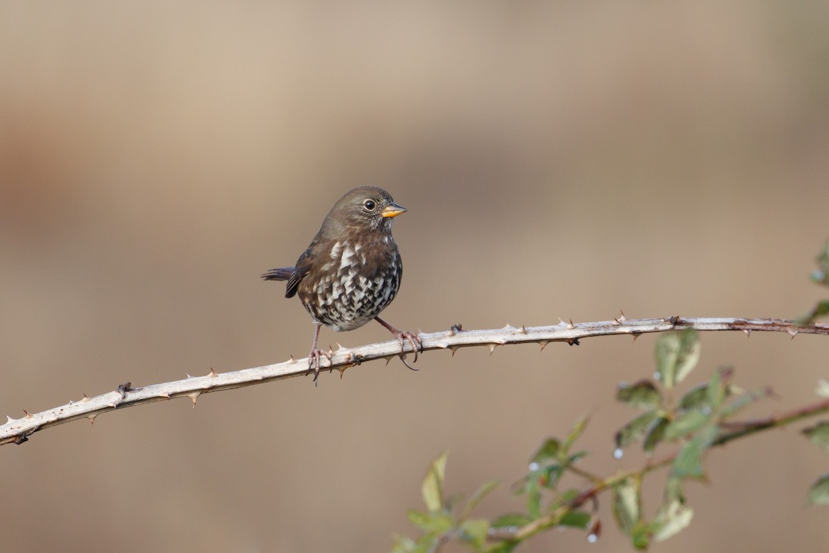
<svg viewBox="0 0 829 553"><path fill-rule="evenodd" d="M686 379L700 358L700 341L693 329L663 334L656 345L656 380L620 385L616 399L642 413L616 433L617 458L623 450L640 442L647 455L660 444L677 444L668 458L670 471L662 505L647 520L642 513L642 475L625 478L613 487L613 516L636 549L647 549L652 541L676 535L691 523L693 511L686 505L683 483L705 479L703 458L717 443L730 417L746 405L768 395L768 390L744 392L731 384L733 371L721 368L708 382L694 386L672 400L676 386Z"/></svg>

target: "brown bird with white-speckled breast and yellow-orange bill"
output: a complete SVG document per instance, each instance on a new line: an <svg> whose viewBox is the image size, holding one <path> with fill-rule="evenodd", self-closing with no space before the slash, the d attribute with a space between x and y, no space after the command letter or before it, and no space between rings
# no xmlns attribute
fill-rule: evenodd
<svg viewBox="0 0 829 553"><path fill-rule="evenodd" d="M404 359L405 341L412 346L414 361L423 351L417 334L400 331L378 317L400 289L403 263L391 235L391 221L406 211L380 187L353 188L334 204L293 267L262 274L264 280L287 280L285 298L298 296L313 319L307 374L313 371L314 386L320 357L331 362L331 352L317 347L323 326L343 332L374 319L400 341L400 359Z"/></svg>

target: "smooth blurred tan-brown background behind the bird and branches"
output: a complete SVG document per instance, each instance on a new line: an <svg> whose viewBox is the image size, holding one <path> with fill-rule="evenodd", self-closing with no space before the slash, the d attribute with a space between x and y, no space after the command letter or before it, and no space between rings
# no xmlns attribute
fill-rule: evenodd
<svg viewBox="0 0 829 553"><path fill-rule="evenodd" d="M824 2L2 2L0 413L125 381L307 355L282 284L343 192L388 189L405 278L385 318L436 332L793 318L829 234ZM386 340L370 324L322 344ZM431 352L65 424L0 451L5 551L389 551L420 480L492 517L584 413L613 473L619 381L654 336ZM702 336L701 364L816 400L823 337ZM797 427L707 458L655 551L827 551ZM656 509L654 479L647 508ZM575 484L575 483L574 483ZM521 551L625 551L551 532ZM449 550L454 551L454 550Z"/></svg>

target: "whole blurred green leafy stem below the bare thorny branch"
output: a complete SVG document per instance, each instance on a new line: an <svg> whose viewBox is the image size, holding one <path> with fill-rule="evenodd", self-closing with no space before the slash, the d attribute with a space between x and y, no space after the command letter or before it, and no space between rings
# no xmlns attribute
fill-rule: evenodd
<svg viewBox="0 0 829 553"><path fill-rule="evenodd" d="M829 264L829 253L827 253ZM513 491L525 497L524 512L510 512L493 520L471 517L473 508L497 483L484 483L467 501L446 497L447 454L429 467L422 484L424 511L410 511L409 520L420 536L415 540L395 536L394 553L432 553L449 541L459 541L475 553L509 553L531 536L556 527L587 531L588 541L599 538L599 494L612 492L613 518L634 549L646 550L655 541L667 540L691 524L694 512L686 504L684 486L705 480L704 459L709 449L764 429L791 424L829 411L822 400L784 415L762 420L734 420L745 407L768 397L771 391L742 390L732 382L734 371L720 368L707 381L681 392L679 387L700 359L696 331L662 334L655 347L656 371L651 379L620 385L616 399L640 411L615 434L616 458L634 444L642 444L651 457L667 449L661 460L649 460L638 470L599 478L579 466L587 452L574 446L588 419L582 417L563 439L548 438L532 455L528 472ZM829 398L829 382L822 381L818 395ZM829 451L829 421L802 431L813 444ZM642 505L642 481L659 468L668 468L662 502L650 517ZM578 478L581 488L569 483ZM812 484L809 500L829 504L829 473ZM585 505L590 510L585 510Z"/></svg>

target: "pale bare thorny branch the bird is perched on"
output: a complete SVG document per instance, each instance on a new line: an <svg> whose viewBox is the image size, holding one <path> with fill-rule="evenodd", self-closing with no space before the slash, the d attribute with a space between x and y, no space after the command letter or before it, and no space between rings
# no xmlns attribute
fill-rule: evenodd
<svg viewBox="0 0 829 553"><path fill-rule="evenodd" d="M647 332L667 332L696 328L699 331L743 331L749 334L760 332L788 332L792 337L797 333L829 335L829 325L813 324L798 327L792 321L781 319L744 319L744 318L651 318L628 319L624 315L613 321L597 323L560 323L547 327L512 327L490 330L462 330L455 325L448 331L420 333L423 342L423 351L448 349L454 354L461 347L486 346L492 352L497 346L535 342L541 344L541 349L550 342L566 342L570 345L579 344L586 337L608 336L613 334L627 334L635 339ZM412 352L410 343L404 343L403 355ZM345 371L365 361L376 359L390 360L401 357L400 342L390 340L378 342L350 349L340 347L332 351L331 360L323 363L322 368ZM94 422L95 417L106 411L124 409L134 405L153 403L154 401L170 400L177 397L189 397L193 405L201 394L213 391L231 390L244 386L253 386L263 382L277 381L292 376L302 376L308 373L305 361L297 361L293 357L288 361L275 365L258 366L241 371L216 373L211 369L206 376L187 376L180 381L163 382L151 386L132 387L130 383L118 386L114 391L87 397L77 401L70 401L66 405L55 407L40 413L30 414L27 411L21 419L8 417L6 424L0 425L0 445L22 444L28 437L38 430L46 429L70 420L89 419Z"/></svg>

